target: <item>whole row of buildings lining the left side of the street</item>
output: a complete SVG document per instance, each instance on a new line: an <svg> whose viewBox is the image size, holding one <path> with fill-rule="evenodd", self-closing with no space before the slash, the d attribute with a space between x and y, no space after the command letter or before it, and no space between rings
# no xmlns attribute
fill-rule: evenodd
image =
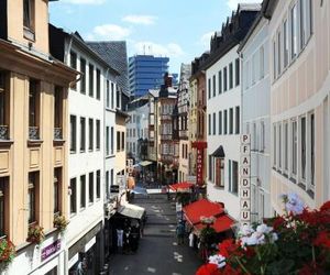
<svg viewBox="0 0 330 275"><path fill-rule="evenodd" d="M127 48L50 24L50 2L0 2L0 238L8 274L98 274L125 204Z"/></svg>

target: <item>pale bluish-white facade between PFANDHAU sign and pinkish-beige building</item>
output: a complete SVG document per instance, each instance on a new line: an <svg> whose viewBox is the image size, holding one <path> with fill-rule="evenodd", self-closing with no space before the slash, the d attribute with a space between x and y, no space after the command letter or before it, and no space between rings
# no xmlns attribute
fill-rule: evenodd
<svg viewBox="0 0 330 275"><path fill-rule="evenodd" d="M242 133L251 136L251 221L271 207L271 79L268 20L258 15L241 43Z"/></svg>

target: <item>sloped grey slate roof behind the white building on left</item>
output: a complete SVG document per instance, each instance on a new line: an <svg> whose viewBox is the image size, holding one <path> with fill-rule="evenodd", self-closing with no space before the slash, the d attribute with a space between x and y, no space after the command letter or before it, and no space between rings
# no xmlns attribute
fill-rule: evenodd
<svg viewBox="0 0 330 275"><path fill-rule="evenodd" d="M120 73L118 84L129 94L128 52L124 41L87 42L107 63Z"/></svg>

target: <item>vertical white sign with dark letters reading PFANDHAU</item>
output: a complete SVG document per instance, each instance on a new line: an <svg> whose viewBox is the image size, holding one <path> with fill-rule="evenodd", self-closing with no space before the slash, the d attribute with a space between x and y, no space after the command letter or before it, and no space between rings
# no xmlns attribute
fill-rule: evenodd
<svg viewBox="0 0 330 275"><path fill-rule="evenodd" d="M251 136L241 135L241 182L240 182L240 204L241 224L251 223Z"/></svg>

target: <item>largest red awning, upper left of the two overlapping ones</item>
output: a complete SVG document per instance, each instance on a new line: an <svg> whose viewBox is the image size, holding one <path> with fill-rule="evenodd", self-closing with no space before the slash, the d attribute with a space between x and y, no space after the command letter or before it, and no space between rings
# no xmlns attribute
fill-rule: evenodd
<svg viewBox="0 0 330 275"><path fill-rule="evenodd" d="M201 217L217 218L224 213L224 209L218 202L211 202L208 199L200 199L184 207L184 212L191 226L195 226L200 222Z"/></svg>

